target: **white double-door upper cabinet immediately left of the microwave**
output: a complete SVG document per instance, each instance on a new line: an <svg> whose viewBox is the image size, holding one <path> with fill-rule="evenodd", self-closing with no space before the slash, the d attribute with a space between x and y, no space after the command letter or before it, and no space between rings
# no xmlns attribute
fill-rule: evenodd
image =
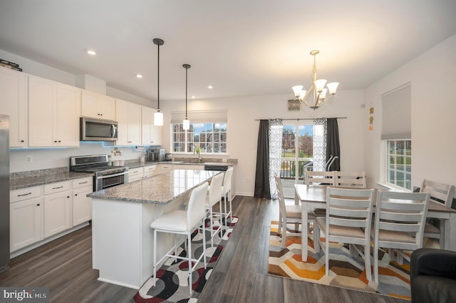
<svg viewBox="0 0 456 303"><path fill-rule="evenodd" d="M28 77L30 147L78 147L81 89Z"/></svg>

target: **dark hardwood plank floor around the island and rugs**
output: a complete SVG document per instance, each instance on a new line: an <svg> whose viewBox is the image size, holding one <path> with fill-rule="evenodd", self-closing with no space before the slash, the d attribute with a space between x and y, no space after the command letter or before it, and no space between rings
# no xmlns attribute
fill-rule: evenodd
<svg viewBox="0 0 456 303"><path fill-rule="evenodd" d="M268 275L269 222L277 219L278 209L277 201L243 196L234 199L234 215L239 222L199 303L410 303ZM48 287L51 302L130 302L135 289L97 281L91 241L88 226L15 257L9 271L0 274L0 285Z"/></svg>

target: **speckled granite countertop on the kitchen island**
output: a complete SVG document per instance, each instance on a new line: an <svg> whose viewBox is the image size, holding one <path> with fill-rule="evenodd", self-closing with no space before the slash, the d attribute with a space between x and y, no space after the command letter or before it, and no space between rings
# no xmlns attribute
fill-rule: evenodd
<svg viewBox="0 0 456 303"><path fill-rule="evenodd" d="M88 197L166 205L221 173L212 170L170 170L151 178L88 194Z"/></svg>

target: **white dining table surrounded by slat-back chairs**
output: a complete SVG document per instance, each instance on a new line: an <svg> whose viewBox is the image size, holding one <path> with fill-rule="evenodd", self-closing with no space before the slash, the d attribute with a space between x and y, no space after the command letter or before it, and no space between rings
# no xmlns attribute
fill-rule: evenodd
<svg viewBox="0 0 456 303"><path fill-rule="evenodd" d="M294 203L301 203L301 220L302 226L307 226L309 223L308 212L315 208L326 209L326 189L328 185L306 185L295 184ZM388 190L382 188L374 188L375 190ZM440 228L445 230L445 250L456 251L456 237L451 235L451 230L456 231L456 210L448 209L445 205L429 201L427 207L427 217L440 219ZM301 233L301 257L302 262L307 261L309 255L309 239L306 232Z"/></svg>

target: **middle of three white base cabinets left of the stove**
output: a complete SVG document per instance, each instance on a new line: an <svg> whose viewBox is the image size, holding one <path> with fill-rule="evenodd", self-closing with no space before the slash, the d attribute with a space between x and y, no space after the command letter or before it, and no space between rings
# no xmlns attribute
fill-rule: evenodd
<svg viewBox="0 0 456 303"><path fill-rule="evenodd" d="M71 227L70 181L44 185L44 237Z"/></svg>

